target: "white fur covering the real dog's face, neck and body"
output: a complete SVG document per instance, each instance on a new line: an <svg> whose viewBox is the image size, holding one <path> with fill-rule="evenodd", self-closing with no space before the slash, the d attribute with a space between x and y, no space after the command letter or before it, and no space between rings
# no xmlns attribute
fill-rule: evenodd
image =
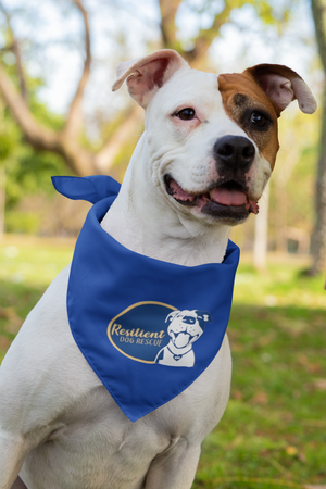
<svg viewBox="0 0 326 489"><path fill-rule="evenodd" d="M146 130L102 226L148 256L188 266L222 262L229 226L179 205L166 193L163 175L168 170L187 191L202 191L217 177L214 141L247 135L226 115L216 75L180 62L171 73L162 88L146 93ZM171 116L189 105L197 120L185 124ZM252 198L259 199L269 175L268 162L256 153ZM28 489L189 489L201 442L227 404L227 337L186 391L131 423L72 337L68 274L67 267L51 284L1 365L0 488L10 489L20 473Z"/></svg>

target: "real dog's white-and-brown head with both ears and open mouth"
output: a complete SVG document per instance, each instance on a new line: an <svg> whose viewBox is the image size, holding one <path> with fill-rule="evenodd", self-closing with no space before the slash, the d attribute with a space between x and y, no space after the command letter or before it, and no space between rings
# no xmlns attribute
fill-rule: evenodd
<svg viewBox="0 0 326 489"><path fill-rule="evenodd" d="M177 212L228 225L258 213L278 151L277 118L292 100L316 102L292 70L260 64L241 74L190 70L173 50L117 66L146 110L148 177Z"/></svg>

